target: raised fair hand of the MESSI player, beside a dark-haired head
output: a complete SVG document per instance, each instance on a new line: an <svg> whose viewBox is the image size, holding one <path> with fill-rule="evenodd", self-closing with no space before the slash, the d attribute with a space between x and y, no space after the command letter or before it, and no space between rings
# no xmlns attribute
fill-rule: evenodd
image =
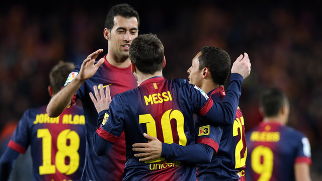
<svg viewBox="0 0 322 181"><path fill-rule="evenodd" d="M247 53L239 55L235 62L233 62L231 67L231 73L239 73L245 79L251 73L251 62Z"/></svg>

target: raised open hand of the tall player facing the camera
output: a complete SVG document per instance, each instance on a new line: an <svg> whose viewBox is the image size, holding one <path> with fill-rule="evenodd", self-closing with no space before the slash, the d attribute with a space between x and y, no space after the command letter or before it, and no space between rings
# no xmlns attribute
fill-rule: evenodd
<svg viewBox="0 0 322 181"><path fill-rule="evenodd" d="M96 64L95 59L103 52L103 49L98 49L90 54L82 63L81 70L77 75L80 81L85 81L91 78L97 71L97 69L104 63L104 58L101 58Z"/></svg>

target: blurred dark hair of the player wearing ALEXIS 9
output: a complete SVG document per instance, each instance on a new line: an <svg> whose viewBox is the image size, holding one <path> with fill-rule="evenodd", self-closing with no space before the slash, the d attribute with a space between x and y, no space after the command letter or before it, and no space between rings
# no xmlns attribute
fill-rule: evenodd
<svg viewBox="0 0 322 181"><path fill-rule="evenodd" d="M289 104L286 95L279 88L269 88L260 95L260 107L265 117L277 116L280 109Z"/></svg>

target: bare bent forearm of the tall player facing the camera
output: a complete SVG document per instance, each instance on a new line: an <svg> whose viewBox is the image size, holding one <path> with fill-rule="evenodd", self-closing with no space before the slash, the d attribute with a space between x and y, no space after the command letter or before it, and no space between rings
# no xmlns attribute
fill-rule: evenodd
<svg viewBox="0 0 322 181"><path fill-rule="evenodd" d="M46 110L49 117L59 116L71 104L72 97L84 83L76 77L50 99Z"/></svg>

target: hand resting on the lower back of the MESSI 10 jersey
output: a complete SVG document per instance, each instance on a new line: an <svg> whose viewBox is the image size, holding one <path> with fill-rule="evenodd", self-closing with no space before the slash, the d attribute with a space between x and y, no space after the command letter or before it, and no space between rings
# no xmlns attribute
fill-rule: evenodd
<svg viewBox="0 0 322 181"><path fill-rule="evenodd" d="M141 153L134 154L135 157L143 157L140 158L139 161L148 161L161 157L162 153L162 142L160 142L157 138L150 136L146 133L143 133L144 138L146 138L148 143L134 143L133 151L138 151Z"/></svg>

